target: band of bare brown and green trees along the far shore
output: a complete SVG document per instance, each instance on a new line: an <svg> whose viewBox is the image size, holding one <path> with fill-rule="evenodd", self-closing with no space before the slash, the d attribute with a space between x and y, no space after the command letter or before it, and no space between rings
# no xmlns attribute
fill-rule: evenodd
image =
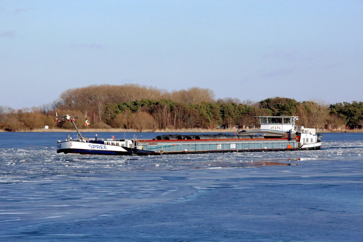
<svg viewBox="0 0 363 242"><path fill-rule="evenodd" d="M0 129L31 131L44 128L72 128L55 122L58 115L84 116L93 128L125 130L213 129L217 127L258 127L253 116L299 116L298 125L310 128L349 126L362 128L363 103L326 104L322 101L297 102L273 97L260 102L238 98L215 99L210 89L192 87L168 92L155 87L93 85L64 91L51 104L13 110L0 106ZM77 125L85 125L84 119Z"/></svg>

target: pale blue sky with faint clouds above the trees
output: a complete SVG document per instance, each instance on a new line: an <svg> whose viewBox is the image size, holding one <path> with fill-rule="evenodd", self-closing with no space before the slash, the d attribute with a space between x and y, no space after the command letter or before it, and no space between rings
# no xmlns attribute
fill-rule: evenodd
<svg viewBox="0 0 363 242"><path fill-rule="evenodd" d="M363 101L363 1L0 0L1 106L138 83Z"/></svg>

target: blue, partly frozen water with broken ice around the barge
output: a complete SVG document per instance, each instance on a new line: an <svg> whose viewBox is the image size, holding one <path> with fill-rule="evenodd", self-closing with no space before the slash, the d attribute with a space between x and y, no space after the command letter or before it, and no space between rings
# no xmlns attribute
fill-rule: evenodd
<svg viewBox="0 0 363 242"><path fill-rule="evenodd" d="M98 136L134 134L160 133ZM0 132L0 241L363 241L362 133L150 157L57 154L66 135Z"/></svg>

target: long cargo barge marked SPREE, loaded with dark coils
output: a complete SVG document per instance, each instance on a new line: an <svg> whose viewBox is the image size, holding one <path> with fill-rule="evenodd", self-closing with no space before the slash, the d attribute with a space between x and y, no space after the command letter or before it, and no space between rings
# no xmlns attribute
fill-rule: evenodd
<svg viewBox="0 0 363 242"><path fill-rule="evenodd" d="M237 130L234 134L217 135L161 135L151 140L104 139L95 135L84 138L79 132L76 118L85 116L57 116L72 122L77 138L58 140L57 153L89 155L163 155L189 153L296 151L321 149L321 135L314 128L295 125L297 116L256 116L259 130ZM87 123L87 120L86 120Z"/></svg>

